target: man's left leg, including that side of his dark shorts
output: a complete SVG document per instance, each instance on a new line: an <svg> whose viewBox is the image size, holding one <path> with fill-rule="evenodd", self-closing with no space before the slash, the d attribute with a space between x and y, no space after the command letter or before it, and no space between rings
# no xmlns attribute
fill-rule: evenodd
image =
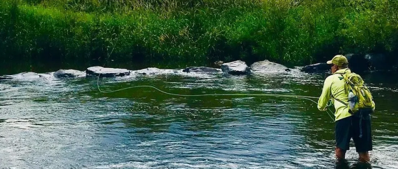
<svg viewBox="0 0 398 169"><path fill-rule="evenodd" d="M345 153L350 149L351 140L351 117L336 121L336 158L345 159Z"/></svg>

